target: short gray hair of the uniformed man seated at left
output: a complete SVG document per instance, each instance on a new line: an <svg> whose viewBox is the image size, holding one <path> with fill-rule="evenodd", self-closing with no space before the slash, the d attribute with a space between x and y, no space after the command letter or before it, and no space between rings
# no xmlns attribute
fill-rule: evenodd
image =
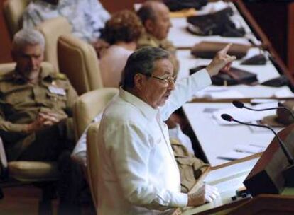
<svg viewBox="0 0 294 215"><path fill-rule="evenodd" d="M45 39L43 35L33 28L23 28L13 37L12 48L19 50L26 45L40 45L42 50L45 49Z"/></svg>

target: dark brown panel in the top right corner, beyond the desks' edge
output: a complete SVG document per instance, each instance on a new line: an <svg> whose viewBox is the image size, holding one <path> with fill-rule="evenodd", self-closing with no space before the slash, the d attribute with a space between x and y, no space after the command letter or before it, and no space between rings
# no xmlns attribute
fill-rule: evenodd
<svg viewBox="0 0 294 215"><path fill-rule="evenodd" d="M294 76L294 3L290 0L243 1Z"/></svg>

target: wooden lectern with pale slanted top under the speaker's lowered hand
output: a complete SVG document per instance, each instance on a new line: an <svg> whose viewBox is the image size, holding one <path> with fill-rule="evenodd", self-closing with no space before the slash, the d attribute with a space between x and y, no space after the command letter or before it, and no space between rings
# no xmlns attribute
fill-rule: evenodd
<svg viewBox="0 0 294 215"><path fill-rule="evenodd" d="M239 161L232 161L212 168L207 175L197 182L199 187L202 181L219 188L220 197L214 202L203 204L199 207L186 207L176 209L173 215L205 215L205 214L283 214L294 213L294 188L285 187L282 194L260 194L257 197L237 197L236 190L242 187L242 182L255 165L261 154L256 154Z"/></svg>

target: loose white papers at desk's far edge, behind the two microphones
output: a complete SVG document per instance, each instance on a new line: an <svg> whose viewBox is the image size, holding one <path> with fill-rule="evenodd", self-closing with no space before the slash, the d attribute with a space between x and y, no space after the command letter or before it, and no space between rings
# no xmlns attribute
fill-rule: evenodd
<svg viewBox="0 0 294 215"><path fill-rule="evenodd" d="M252 107L251 105L247 105L249 107ZM260 105L255 105L252 108L256 109L263 109L263 108L273 108L277 107L277 103L263 103ZM266 117L268 115L275 115L276 110L266 110L266 111L252 111L252 110L246 110L245 108L235 108L232 105L233 108L226 108L226 109L221 109L217 110L212 113L212 116L214 119L217 121L218 124L220 125L232 125L232 124L237 124L236 122L227 122L222 119L221 115L226 113L228 115L231 115L234 117L234 119L239 120L241 122L254 122L257 120L262 120L263 117Z"/></svg>

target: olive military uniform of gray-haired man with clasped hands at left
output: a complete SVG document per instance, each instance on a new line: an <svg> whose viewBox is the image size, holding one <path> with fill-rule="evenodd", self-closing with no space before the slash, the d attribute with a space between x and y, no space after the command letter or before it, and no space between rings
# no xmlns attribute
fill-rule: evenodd
<svg viewBox="0 0 294 215"><path fill-rule="evenodd" d="M28 83L16 71L0 76L0 135L9 161L50 161L73 145L75 89L64 74L40 69L40 81ZM60 122L38 132L24 132L39 112L58 113ZM71 142L71 143L70 143Z"/></svg>

